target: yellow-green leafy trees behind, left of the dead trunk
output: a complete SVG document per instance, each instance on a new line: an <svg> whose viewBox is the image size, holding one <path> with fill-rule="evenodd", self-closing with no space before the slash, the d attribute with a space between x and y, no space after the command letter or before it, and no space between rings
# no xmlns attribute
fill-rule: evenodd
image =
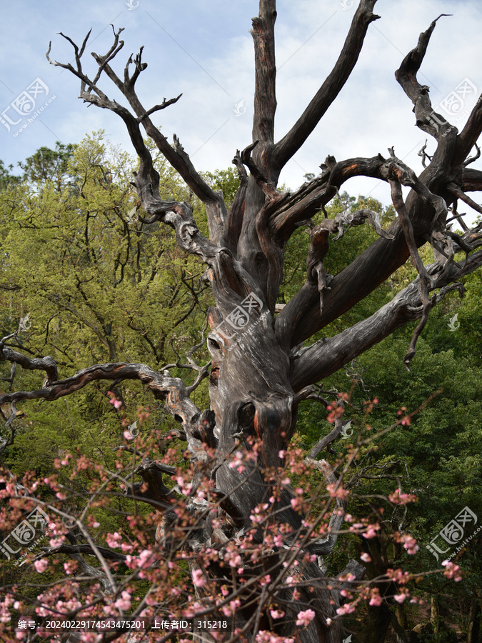
<svg viewBox="0 0 482 643"><path fill-rule="evenodd" d="M144 214L136 212L129 186L134 160L98 132L79 145L39 149L21 167L18 180L4 171L0 191L3 336L28 314L27 329L19 334L23 349L31 357L54 357L60 378L103 362L144 362L155 369L185 362L183 352L199 342L211 304L201 281L204 268L176 249L166 226L132 216ZM165 198L191 201L206 227L204 209L179 176L161 159L156 167ZM201 349L194 357L204 364L209 354ZM191 371L171 371L193 377ZM1 377L9 376L4 363ZM39 389L42 377L19 368L14 385ZM34 469L44 477L53 471L53 457L70 452L112 469L113 447L125 442L123 431L139 408L150 407L145 434L159 437L173 426L141 384L114 387L120 410L110 404L108 390L94 384L56 402L31 402L14 422L6 464L15 474ZM196 397L207 405L205 386ZM9 432L0 434L7 438ZM84 482L77 477L74 487L82 489Z"/></svg>

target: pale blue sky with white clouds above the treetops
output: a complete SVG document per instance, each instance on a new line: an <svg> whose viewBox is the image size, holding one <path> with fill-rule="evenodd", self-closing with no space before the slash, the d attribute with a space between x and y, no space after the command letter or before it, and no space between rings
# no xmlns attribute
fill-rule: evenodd
<svg viewBox="0 0 482 643"><path fill-rule="evenodd" d="M276 140L291 128L331 70L356 5L355 0L278 0ZM254 74L249 29L258 13L256 0L0 0L0 11L0 159L7 165L16 168L41 146L78 143L99 129L111 143L134 154L121 119L96 106L88 108L77 98L79 80L49 65L45 56L51 41L52 59L72 61L71 45L59 32L80 45L92 29L84 66L94 75L90 52L108 51L111 25L125 29L124 49L113 64L119 74L129 56L144 45L148 68L136 88L146 109L183 94L152 119L169 141L173 134L179 136L196 169L225 169L236 149L251 143ZM369 26L350 79L283 169L280 182L289 189L303 183L303 174L318 174L328 154L338 161L378 153L387 157L393 146L398 158L421 172L417 153L426 134L415 126L411 101L394 72L421 31L440 14L453 15L438 21L418 79L430 86L436 111L458 129L481 95L479 0L378 0L375 13L381 19ZM123 101L106 76L99 84L109 98ZM431 139L427 151L434 149ZM473 167L482 169L481 161ZM375 179L351 179L343 189L390 203L388 186Z"/></svg>

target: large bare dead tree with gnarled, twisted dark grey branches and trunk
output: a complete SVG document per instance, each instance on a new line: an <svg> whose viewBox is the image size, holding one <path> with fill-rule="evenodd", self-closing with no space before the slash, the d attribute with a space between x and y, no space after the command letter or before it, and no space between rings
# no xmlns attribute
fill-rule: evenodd
<svg viewBox="0 0 482 643"><path fill-rule="evenodd" d="M196 254L206 264L206 274L216 301L208 319L211 366L199 373L191 387L181 379L171 377L169 372L161 374L144 364L101 364L59 380L56 364L50 357L29 359L3 343L3 359L24 368L44 370L46 379L41 389L4 394L0 402L11 404L13 417L15 404L24 399L59 399L93 380L140 380L156 399L166 401L169 412L181 423L180 434L188 442L191 462L198 467L199 476L206 471L206 463L209 464L209 474L216 482L214 500L231 522L231 525L226 522L224 533L223 529L218 530L221 539L232 538L233 524L238 528L248 527L253 507L266 502L271 496L271 483L263 476L263 470L280 465L280 452L286 449L296 430L298 404L313 395L313 385L403 324L420 319L405 357L408 367L430 309L448 291L461 289L459 280L482 264L482 250L477 251L482 244L481 226L466 229L461 235L453 233L447 226L448 208L452 206L456 212L458 200L482 212L481 206L467 196L467 192L482 188L482 171L468 168L471 160L468 155L476 146L482 129L482 101L478 101L460 133L443 116L434 114L428 86L418 82L417 72L435 29L435 20L421 34L415 49L401 61L400 69L396 71L398 83L413 103L416 125L436 141L436 151L420 176L403 164L391 149L386 157L376 154L337 161L333 156L327 156L321 165L321 174L296 192L281 192L276 187L283 166L300 149L348 81L366 32L371 22L379 17L373 14L375 2L360 1L331 73L290 131L275 141L273 28L276 3L275 0L260 1L259 15L253 19L251 31L256 60L253 141L234 156L240 186L229 209L226 209L222 194L211 189L201 178L179 139L174 136L174 145L171 146L151 121L151 114L176 103L179 96L164 99L161 104L146 109L136 95L136 80L146 69L142 48L138 55L127 61L123 77L112 69L111 61L124 45L120 39L121 29L114 33L114 44L106 55L92 54L99 65L94 79L86 76L81 61L89 34L80 48L67 38L74 47L74 64L52 61L50 48L47 54L51 64L69 69L79 77L81 99L114 111L126 124L140 159L133 185L147 214L142 219L144 223L162 221L171 226L176 231L179 247ZM108 76L125 96L129 107L104 94L100 86L101 76ZM164 201L159 194L159 175L144 144L141 126L206 207L209 238L201 235L189 204ZM387 142L389 144L390 141ZM398 216L388 230L381 228L376 213L365 209L353 213L344 211L335 219L326 218L318 225L311 221L311 217L323 209L353 176L374 177L390 185ZM401 186L411 188L406 200L403 200ZM327 275L323 259L331 244L343 234L349 234L352 226L365 219L373 225L378 239L340 273ZM306 281L278 312L276 301L286 243L299 225L311 228ZM338 233L336 239L330 237L333 233ZM433 246L435 260L430 266L423 266L418 248L427 242ZM456 252L460 251L466 253L461 264L454 260ZM418 270L418 279L413 284L353 327L302 347L305 340L388 279L408 256ZM203 412L191 401L190 394L201 379L208 376L211 410ZM330 439L336 439L340 430L341 427L334 430ZM251 448L250 437L261 441L262 446L257 459L240 474L229 467L226 457L238 444ZM214 462L208 456L207 447L216 449ZM154 507L162 507L163 503L169 507L169 503L163 500L167 492L161 482L161 470L144 462L139 474L148 482L143 499ZM332 474L328 472L327 475ZM301 533L303 516L292 509L292 497L293 490L286 485L274 509L276 521L288 523L293 534L298 534ZM333 532L339 529L341 520L338 513L333 514ZM326 556L335 543L336 537L332 535L325 541L311 542L306 547ZM273 569L276 569L278 554L276 551L272 553ZM356 565L352 565L352 569L355 577L363 574ZM326 587L326 583L323 584L321 567L315 562L303 564L300 573L308 581L313 579L313 592L305 592L302 599L316 612L316 618L309 627L299 630L296 640L306 643L341 641L341 620L336 619L334 612L338 596ZM294 623L297 611L296 604L287 605L286 622ZM251 623L252 627L255 622L259 624L260 616L256 620L253 617L255 612L256 605L244 612L241 608L241 624ZM327 618L335 619L331 627L326 625ZM293 632L295 629L293 624Z"/></svg>

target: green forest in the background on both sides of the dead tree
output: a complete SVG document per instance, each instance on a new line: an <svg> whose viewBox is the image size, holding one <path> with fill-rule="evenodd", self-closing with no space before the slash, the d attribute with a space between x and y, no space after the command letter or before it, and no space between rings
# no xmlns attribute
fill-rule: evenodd
<svg viewBox="0 0 482 643"><path fill-rule="evenodd" d="M169 368L171 374L193 382L194 360L201 365L209 362L204 324L214 301L204 267L176 248L174 231L139 221L142 210L129 186L135 169L136 161L112 147L102 132L77 145L39 149L20 164L21 176L12 167L0 166L1 334L14 333L22 319L17 339L23 351L31 358L54 357L61 377L91 364L143 362L158 371ZM206 216L196 196L161 157L156 169L161 194L189 201L204 233ZM239 180L234 169L204 178L222 189L229 206ZM356 208L378 211L383 224L393 219L391 207L386 209L370 197L344 194L341 199ZM329 216L341 211L338 199L327 211ZM374 239L376 233L366 225L337 241L336 253L326 258L328 273L336 274ZM278 304L289 301L306 279L309 241L303 227L289 241ZM425 263L431 261L431 249L421 249L421 255ZM408 261L371 296L323 329L326 337L365 319L415 277L416 269ZM343 419L352 419L346 439L321 452L329 462L343 457L361 432L375 434L403 418L364 449L345 481L352 492L351 514L378 517L380 507L385 507L381 529L376 537L364 539L347 527L327 560L328 572L363 554L368 554L364 559L369 578L400 566L413 573L440 569L443 555L437 561L426 546L464 507L481 519L481 280L480 271L474 272L464 281L463 299L453 293L433 309L411 372L402 361L413 332L413 324L408 324L320 383L320 394L328 400L348 394ZM196 345L196 352L191 352ZM6 362L0 368L2 393L13 381L15 389L41 387L37 372L20 367L11 371ZM193 400L201 408L209 407L207 380ZM378 403L368 404L374 400ZM423 408L409 417L419 407ZM129 427L134 422L139 437L132 439ZM88 468L72 479L75 460L86 457L114 469L122 457L134 470L139 462L136 454L126 449L119 456L114 449L136 446L141 440L143 453L159 444L165 453L171 448L169 432L176 432L176 427L164 405L156 404L139 382L110 387L94 382L56 402L21 404L14 422L0 428L0 464L19 477L26 472L34 472L36 479L56 475L71 489L63 499L65 510L79 514L100 474ZM303 402L296 446L308 453L331 428L320 404ZM171 464L183 466L182 443L172 448L176 462L171 458ZM65 459L66 454L71 457ZM418 500L407 505L383 503L382 497L397 488ZM47 500L51 490L39 487L39 494ZM118 532L126 514L148 513L149 508L134 504L117 493L109 506L96 508L97 544L105 546L106 534ZM396 530L417 539L415 554L396 542L392 535ZM479 532L453 559L463 572L461 582L426 574L412 583L422 605L389 599L381 607L361 607L348 614L345 624L356 632L353 641L378 643L378 624L384 620L393 629L399 624L406 631L429 624L422 631L418 628L419 636L413 640L480 643L481 544ZM5 560L0 565L3 584L14 579L25 584L26 594L38 592L29 585L39 582L31 565L15 568ZM393 594L393 587L380 591Z"/></svg>

